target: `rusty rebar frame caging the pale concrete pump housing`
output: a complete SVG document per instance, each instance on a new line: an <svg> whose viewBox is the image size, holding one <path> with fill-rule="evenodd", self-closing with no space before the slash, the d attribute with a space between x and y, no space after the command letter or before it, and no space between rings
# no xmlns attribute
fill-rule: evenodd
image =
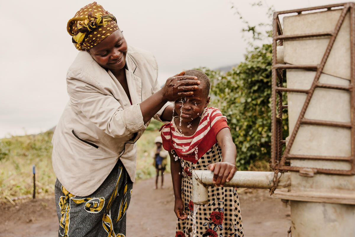
<svg viewBox="0 0 355 237"><path fill-rule="evenodd" d="M319 33L311 33L311 34L294 34L290 36L283 36L282 27L279 21L279 15L289 14L289 13L297 13L302 14L304 11L312 11L312 10L320 10L324 9L326 11L332 10L334 7L343 7L342 12L340 14L337 25L332 32L319 32ZM324 65L328 59L329 53L333 47L334 41L338 35L339 29L342 26L345 15L350 12L350 54L351 54L351 74L350 74L350 85L349 86L340 86L340 85L332 85L332 84L322 84L318 80L322 74ZM288 166L286 165L291 159L312 159L312 160L333 160L333 161L348 161L350 162L351 169L350 170L338 170L338 169L324 169L324 168L313 168L315 173L326 173L326 174L345 174L345 175L354 175L355 174L355 3L347 2L343 4L332 4L326 6L319 7L309 7L304 9L297 9L291 11L280 11L275 12L273 15L273 31L272 31L273 41L272 41L272 115L271 115L271 167L274 170L275 178L274 178L274 188L277 186L277 173L285 172L285 171L300 171L301 169L305 169L306 167L297 167L297 166ZM331 37L327 46L326 51L324 52L321 63L318 65L287 65L287 64L277 64L276 62L276 49L277 43L282 45L283 40L287 39L299 39L299 38L310 38L310 37ZM283 70L284 69L311 69L316 70L316 75L313 80L312 86L309 90L301 90L294 88L285 88L283 87ZM350 91L350 114L351 114L351 122L350 123L342 123L342 122L334 122L334 121L326 121L326 120L315 120L315 119L305 119L304 115L308 104L312 98L312 95L316 88L328 88L335 90L345 90ZM284 153L282 153L282 146L286 144L286 141L283 140L282 137L282 111L288 106L283 106L283 92L298 92L298 93L306 93L307 97L305 103L302 107L300 115L295 124L295 128L292 131L289 142L285 147ZM277 104L278 99L278 105ZM297 132L300 128L301 124L311 124L311 125L324 125L324 126L334 126L334 127L342 127L342 128L350 128L351 132L351 156L350 157L342 157L342 156L311 156L311 155L293 155L290 154L290 149L293 145Z"/></svg>

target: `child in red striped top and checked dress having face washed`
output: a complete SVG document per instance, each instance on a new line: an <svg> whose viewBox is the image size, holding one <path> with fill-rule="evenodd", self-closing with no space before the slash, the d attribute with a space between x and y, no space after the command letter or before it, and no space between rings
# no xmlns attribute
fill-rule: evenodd
<svg viewBox="0 0 355 237"><path fill-rule="evenodd" d="M192 169L214 171L215 184L208 188L208 205L197 210L196 237L243 236L237 190L223 187L236 172L236 148L226 117L217 108L207 108L207 75L198 70L188 70L185 75L196 76L201 84L192 96L175 101L178 116L161 128L163 147L171 159L174 211L178 217L176 237L187 237L192 232L196 208L191 201Z"/></svg>

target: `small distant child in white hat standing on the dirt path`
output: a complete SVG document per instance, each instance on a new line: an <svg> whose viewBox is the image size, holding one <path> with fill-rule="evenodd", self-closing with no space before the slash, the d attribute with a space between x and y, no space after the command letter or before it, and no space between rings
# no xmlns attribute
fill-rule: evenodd
<svg viewBox="0 0 355 237"><path fill-rule="evenodd" d="M153 166L157 169L157 178L155 179L155 188L158 189L158 177L159 171L162 176L162 188L164 188L164 171L166 166L166 157L168 156L168 152L164 150L162 146L162 138L157 136L154 140L155 147L151 152L151 157L153 158Z"/></svg>

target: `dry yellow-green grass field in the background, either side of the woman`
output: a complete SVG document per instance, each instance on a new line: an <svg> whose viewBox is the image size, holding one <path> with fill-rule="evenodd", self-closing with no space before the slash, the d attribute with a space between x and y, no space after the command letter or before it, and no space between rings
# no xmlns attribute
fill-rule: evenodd
<svg viewBox="0 0 355 237"><path fill-rule="evenodd" d="M148 129L137 141L136 179L156 175L150 152L162 123L152 120ZM54 194L56 176L52 168L52 131L37 135L13 136L0 139L0 202L19 196L33 195L33 173L36 170L36 197ZM166 171L170 172L170 160Z"/></svg>

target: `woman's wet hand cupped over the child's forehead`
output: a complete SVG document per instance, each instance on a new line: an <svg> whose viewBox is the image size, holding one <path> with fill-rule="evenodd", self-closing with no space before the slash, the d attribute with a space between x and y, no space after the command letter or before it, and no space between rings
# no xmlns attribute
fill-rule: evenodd
<svg viewBox="0 0 355 237"><path fill-rule="evenodd" d="M200 81L196 76L184 76L185 71L169 77L162 87L163 99L165 101L176 101L184 96L193 95L193 91L198 89Z"/></svg>

